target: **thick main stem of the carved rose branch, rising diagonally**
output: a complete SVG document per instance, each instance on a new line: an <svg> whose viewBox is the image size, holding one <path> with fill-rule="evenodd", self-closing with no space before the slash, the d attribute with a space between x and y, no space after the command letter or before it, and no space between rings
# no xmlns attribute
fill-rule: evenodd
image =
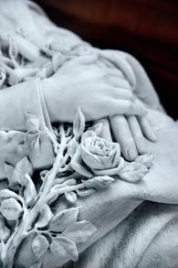
<svg viewBox="0 0 178 268"><path fill-rule="evenodd" d="M53 182L55 177L57 177L58 174L58 166L62 163L63 153L67 146L66 143L66 137L64 133L64 127L63 124L60 126L60 133L61 133L61 140L60 145L58 149L58 155L55 159L55 162L47 173L44 183L42 185L42 191L41 196L38 198L36 205L31 209L28 210L27 213L24 213L23 220L18 228L16 228L15 232L11 235L9 240L5 243L3 247L3 252L1 253L2 261L4 263L4 268L12 268L14 263L14 257L16 254L16 250L20 243L26 238L26 236L29 235L29 232L31 232L32 225L34 221L37 219L37 216L39 215L39 212L42 208L42 206L47 203L47 197L49 196L48 193L50 192L50 189L53 186ZM57 193L60 195L62 193L65 193L67 189L72 189L74 187L66 187L58 190ZM55 193L55 194L57 194Z"/></svg>

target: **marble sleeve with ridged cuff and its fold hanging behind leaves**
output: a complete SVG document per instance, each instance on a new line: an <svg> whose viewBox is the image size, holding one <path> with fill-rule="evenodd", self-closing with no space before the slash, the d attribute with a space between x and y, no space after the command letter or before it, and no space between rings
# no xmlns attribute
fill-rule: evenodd
<svg viewBox="0 0 178 268"><path fill-rule="evenodd" d="M26 124L26 113L37 117L40 139L40 148L36 152L31 148L31 137L30 134L28 135L27 143L29 142L29 146L26 149L26 154L35 168L50 166L54 159L53 146L46 131L47 127L50 129L50 121L42 92L40 94L40 82L38 79L19 83L0 91L1 130L29 131ZM2 148L2 150L4 149ZM3 156L5 158L5 153L2 151L2 158ZM16 162L16 155L14 157L14 162Z"/></svg>

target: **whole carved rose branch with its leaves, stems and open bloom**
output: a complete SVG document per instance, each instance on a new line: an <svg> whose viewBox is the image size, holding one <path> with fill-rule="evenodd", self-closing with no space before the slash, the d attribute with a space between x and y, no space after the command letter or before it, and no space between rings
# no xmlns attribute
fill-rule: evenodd
<svg viewBox="0 0 178 268"><path fill-rule="evenodd" d="M29 127L26 134L10 131L2 135L11 138L15 145L16 139L23 141L24 147L29 148L28 134L38 131L36 115L26 113L26 124ZM13 267L20 243L32 234L31 247L39 265L47 251L60 257L58 265L63 264L63 257L77 261L77 244L87 241L96 231L88 220L78 220L79 208L75 207L78 196L88 197L119 178L137 182L149 171L152 154L140 155L128 163L120 156L119 144L99 137L101 129L102 123L86 128L84 115L79 109L73 127L60 123L53 132L48 130L56 158L50 170L41 171L37 186L31 177L33 166L24 156L28 155L26 150L23 157L16 155L12 158L16 159L15 167L4 163L8 178L8 187L0 191L1 261L4 267ZM37 152L40 146L38 135L30 142L31 148ZM53 204L62 195L69 209L54 215Z"/></svg>

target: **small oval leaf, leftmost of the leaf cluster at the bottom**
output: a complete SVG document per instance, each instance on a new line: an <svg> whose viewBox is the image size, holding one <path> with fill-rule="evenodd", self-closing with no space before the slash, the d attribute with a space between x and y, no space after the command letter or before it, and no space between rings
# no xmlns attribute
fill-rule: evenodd
<svg viewBox="0 0 178 268"><path fill-rule="evenodd" d="M47 252L47 249L49 247L49 242L47 241L47 238L42 234L37 234L37 236L32 241L32 251L37 256L37 258L40 258Z"/></svg>

